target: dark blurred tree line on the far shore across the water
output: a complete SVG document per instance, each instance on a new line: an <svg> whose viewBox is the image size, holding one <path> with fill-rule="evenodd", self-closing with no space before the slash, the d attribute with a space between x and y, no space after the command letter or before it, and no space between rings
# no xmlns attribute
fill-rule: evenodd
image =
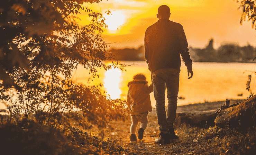
<svg viewBox="0 0 256 155"><path fill-rule="evenodd" d="M250 44L239 46L228 43L213 48L211 39L205 48L189 47L191 59L196 62L251 62L256 55L256 48ZM110 52L117 60L145 60L144 46L139 48L111 49Z"/></svg>

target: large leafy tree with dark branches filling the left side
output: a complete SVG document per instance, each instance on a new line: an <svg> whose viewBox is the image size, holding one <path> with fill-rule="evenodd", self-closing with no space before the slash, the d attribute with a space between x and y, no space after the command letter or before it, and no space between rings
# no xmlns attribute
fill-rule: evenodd
<svg viewBox="0 0 256 155"><path fill-rule="evenodd" d="M97 86L86 87L70 79L79 64L92 77L98 76L97 68L124 69L108 53L101 38L107 27L104 17L84 7L88 2L100 1L1 2L0 99L11 103L8 107L11 114L22 113L28 118L31 113L45 113L47 125L64 111L79 113L101 125L121 117L121 101L109 100ZM87 25L77 23L76 15L81 12L91 19ZM105 65L104 60L113 60L112 65ZM17 99L6 93L13 89Z"/></svg>

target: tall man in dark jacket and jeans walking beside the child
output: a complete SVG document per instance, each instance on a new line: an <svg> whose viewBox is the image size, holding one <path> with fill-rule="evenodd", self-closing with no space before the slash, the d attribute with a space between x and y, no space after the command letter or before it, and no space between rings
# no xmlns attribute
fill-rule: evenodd
<svg viewBox="0 0 256 155"><path fill-rule="evenodd" d="M170 143L179 138L174 132L179 92L179 77L182 56L188 69L188 79L193 76L192 60L190 59L188 42L183 27L170 21L170 8L158 8L156 23L147 28L145 33L145 58L152 73L156 114L160 134L156 143ZM165 87L167 88L167 118L165 112Z"/></svg>

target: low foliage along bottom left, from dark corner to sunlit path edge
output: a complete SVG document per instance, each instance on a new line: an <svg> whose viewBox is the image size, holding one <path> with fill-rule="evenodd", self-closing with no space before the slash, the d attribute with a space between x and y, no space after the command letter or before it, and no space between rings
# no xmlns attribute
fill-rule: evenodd
<svg viewBox="0 0 256 155"><path fill-rule="evenodd" d="M78 128L60 130L39 122L21 121L0 124L1 154L20 155L73 155L73 154L124 154L127 150L115 139L103 140ZM15 149L13 149L15 148Z"/></svg>

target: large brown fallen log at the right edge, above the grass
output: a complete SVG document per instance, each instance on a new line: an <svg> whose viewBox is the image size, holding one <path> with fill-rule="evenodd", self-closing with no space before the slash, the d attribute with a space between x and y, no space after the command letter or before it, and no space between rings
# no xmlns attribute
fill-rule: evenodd
<svg viewBox="0 0 256 155"><path fill-rule="evenodd" d="M215 119L218 127L239 127L247 128L256 125L256 95L245 100L237 106L222 110Z"/></svg>

